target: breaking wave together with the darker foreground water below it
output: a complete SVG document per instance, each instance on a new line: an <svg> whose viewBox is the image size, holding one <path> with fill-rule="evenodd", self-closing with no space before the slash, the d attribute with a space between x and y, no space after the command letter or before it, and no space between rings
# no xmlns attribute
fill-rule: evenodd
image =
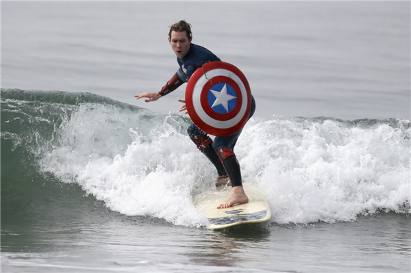
<svg viewBox="0 0 411 273"><path fill-rule="evenodd" d="M189 125L90 93L2 90L3 272L410 269L409 120L252 118L236 154L273 218L222 232L193 203L216 172Z"/></svg>

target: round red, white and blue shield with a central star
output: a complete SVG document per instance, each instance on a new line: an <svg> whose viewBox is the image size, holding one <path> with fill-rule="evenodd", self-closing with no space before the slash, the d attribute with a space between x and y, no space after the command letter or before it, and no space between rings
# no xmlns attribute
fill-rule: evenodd
<svg viewBox="0 0 411 273"><path fill-rule="evenodd" d="M249 83L236 66L227 62L208 62L188 81L186 107L199 129L210 135L233 135L249 118Z"/></svg>

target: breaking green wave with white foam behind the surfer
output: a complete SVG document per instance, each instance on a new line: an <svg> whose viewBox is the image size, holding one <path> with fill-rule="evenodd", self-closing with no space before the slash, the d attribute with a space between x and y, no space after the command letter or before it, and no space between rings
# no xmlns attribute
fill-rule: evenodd
<svg viewBox="0 0 411 273"><path fill-rule="evenodd" d="M32 177L79 185L113 211L204 226L192 200L212 190L216 171L189 125L96 94L1 90L2 192L30 166ZM410 120L256 117L236 155L273 222L352 221L410 213L410 133Z"/></svg>

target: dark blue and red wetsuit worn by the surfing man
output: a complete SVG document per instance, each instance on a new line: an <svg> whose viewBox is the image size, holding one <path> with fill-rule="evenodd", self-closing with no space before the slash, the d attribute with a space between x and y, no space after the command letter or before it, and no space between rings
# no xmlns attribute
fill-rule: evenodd
<svg viewBox="0 0 411 273"><path fill-rule="evenodd" d="M169 94L181 86L182 83L188 82L192 73L195 73L197 68L200 68L208 62L217 61L221 61L220 58L208 49L197 44L190 44L188 53L182 59L177 57L179 70L177 70L177 73L175 73L170 81L162 88L160 94L162 96ZM256 103L253 96L251 96L251 99L249 118L253 116L256 110ZM187 131L191 140L197 145L197 148L214 164L219 173L219 177L223 178L228 176L233 187L242 186L240 166L233 152L242 130L226 137L216 136L214 141L194 123L188 127Z"/></svg>

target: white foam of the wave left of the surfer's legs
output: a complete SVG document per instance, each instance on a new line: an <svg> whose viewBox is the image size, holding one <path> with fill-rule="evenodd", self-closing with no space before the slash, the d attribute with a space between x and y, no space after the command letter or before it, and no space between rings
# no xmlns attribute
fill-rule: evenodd
<svg viewBox="0 0 411 273"><path fill-rule="evenodd" d="M212 183L212 166L204 167L206 159L188 135L179 132L177 120L163 116L161 122L155 117L142 122L142 115L113 116L103 111L104 106L95 108L79 109L67 120L60 133L61 146L42 159L42 170L66 183L79 183L114 211L185 226L205 225L191 192L201 177ZM122 120L132 115L136 116L132 122ZM126 130L127 123L143 129ZM113 131L123 135L112 135Z"/></svg>

